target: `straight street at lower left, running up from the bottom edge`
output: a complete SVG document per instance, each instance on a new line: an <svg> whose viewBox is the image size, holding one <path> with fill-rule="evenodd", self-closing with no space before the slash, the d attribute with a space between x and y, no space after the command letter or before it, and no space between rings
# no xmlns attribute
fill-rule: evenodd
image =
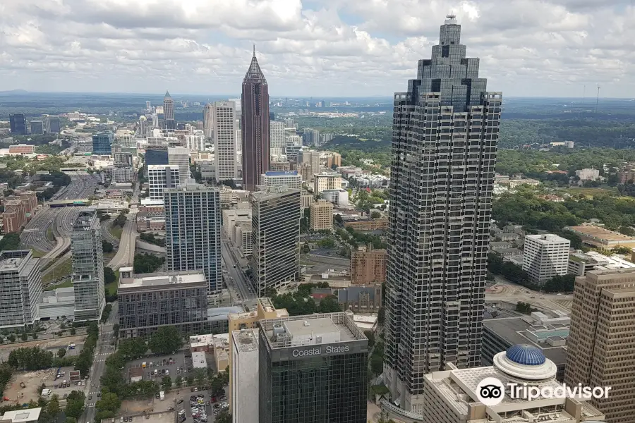
<svg viewBox="0 0 635 423"><path fill-rule="evenodd" d="M97 340L97 348L95 348L95 357L92 362L92 368L90 369L90 378L86 384L84 393L86 394L86 409L84 410L79 422L93 422L95 420L95 403L99 398L97 393L101 391L101 384L99 379L102 379L102 374L106 368L106 359L109 355L114 353L113 343L115 337L112 331L112 326L117 321L117 303L114 302L112 310L108 320L104 324L99 325L99 340ZM92 397L92 398L91 398Z"/></svg>

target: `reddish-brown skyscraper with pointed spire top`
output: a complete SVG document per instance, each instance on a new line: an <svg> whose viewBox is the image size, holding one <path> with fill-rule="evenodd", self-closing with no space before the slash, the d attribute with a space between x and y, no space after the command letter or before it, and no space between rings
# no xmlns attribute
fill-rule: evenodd
<svg viewBox="0 0 635 423"><path fill-rule="evenodd" d="M269 86L253 50L251 64L243 79L242 147L243 188L255 191L262 173L269 171Z"/></svg>

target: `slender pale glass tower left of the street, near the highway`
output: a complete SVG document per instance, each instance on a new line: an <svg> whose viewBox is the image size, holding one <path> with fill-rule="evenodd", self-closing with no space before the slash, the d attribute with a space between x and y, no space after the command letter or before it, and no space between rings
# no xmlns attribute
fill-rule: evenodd
<svg viewBox="0 0 635 423"><path fill-rule="evenodd" d="M102 230L95 209L80 212L71 232L75 321L99 320L106 302Z"/></svg>

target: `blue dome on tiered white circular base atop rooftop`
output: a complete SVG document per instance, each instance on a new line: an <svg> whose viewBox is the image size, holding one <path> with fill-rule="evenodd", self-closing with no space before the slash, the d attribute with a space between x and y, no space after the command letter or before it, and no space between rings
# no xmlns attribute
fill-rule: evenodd
<svg viewBox="0 0 635 423"><path fill-rule="evenodd" d="M494 367L514 378L533 381L550 379L557 372L556 365L533 345L514 345L498 353Z"/></svg>

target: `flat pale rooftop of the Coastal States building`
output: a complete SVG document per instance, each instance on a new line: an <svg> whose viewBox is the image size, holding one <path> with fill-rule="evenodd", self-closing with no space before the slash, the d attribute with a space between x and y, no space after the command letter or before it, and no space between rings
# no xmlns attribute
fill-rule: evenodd
<svg viewBox="0 0 635 423"><path fill-rule="evenodd" d="M272 349L366 339L344 312L266 319L260 321L260 328Z"/></svg>

